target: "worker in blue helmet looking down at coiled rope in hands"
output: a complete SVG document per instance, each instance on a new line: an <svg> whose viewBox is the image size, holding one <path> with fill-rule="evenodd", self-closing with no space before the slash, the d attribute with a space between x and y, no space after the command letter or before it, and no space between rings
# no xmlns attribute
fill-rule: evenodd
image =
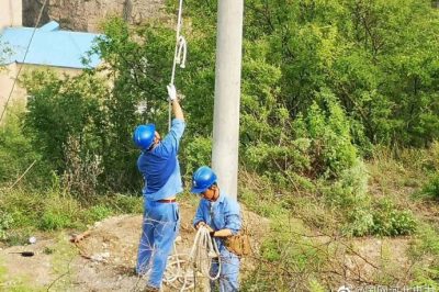
<svg viewBox="0 0 439 292"><path fill-rule="evenodd" d="M239 204L219 191L215 172L206 167L200 167L192 178L193 193L200 193L202 199L196 209L193 226L198 229L204 225L211 229L221 257L219 291L238 291L239 258L225 246L228 236L236 235L241 227ZM213 261L211 274L218 271L218 261ZM211 281L211 289L216 291L216 281Z"/></svg>

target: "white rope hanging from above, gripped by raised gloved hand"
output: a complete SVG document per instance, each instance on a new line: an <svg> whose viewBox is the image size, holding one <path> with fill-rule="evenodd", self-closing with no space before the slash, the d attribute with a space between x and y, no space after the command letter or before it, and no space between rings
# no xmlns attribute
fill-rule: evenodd
<svg viewBox="0 0 439 292"><path fill-rule="evenodd" d="M172 64L172 75L171 75L171 82L170 85L173 85L173 81L176 79L176 67L177 64L180 64L180 68L185 67L185 54L187 54L187 43L185 40L182 35L180 35L181 27L183 26L183 19L182 19L182 13L183 13L183 0L180 0L179 4L179 13L178 13L178 19L177 19L177 32L176 32L176 49L173 53L173 64ZM183 54L183 59L181 61L181 54ZM171 101L169 101L169 110L168 110L168 124L169 124L169 130L171 128L171 109L172 104Z"/></svg>

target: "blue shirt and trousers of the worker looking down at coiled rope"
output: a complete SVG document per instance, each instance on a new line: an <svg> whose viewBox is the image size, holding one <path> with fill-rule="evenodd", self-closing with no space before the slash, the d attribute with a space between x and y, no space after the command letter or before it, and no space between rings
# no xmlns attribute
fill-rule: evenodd
<svg viewBox="0 0 439 292"><path fill-rule="evenodd" d="M210 202L203 198L193 218L193 225L196 226L199 222L206 223L215 232L230 229L233 234L237 234L241 226L239 204L222 193L215 202ZM221 257L219 291L238 291L239 258L226 248L224 239L215 237L215 242ZM215 276L217 271L218 262L214 261L211 267L211 274ZM215 290L215 281L211 281L211 288L213 291Z"/></svg>

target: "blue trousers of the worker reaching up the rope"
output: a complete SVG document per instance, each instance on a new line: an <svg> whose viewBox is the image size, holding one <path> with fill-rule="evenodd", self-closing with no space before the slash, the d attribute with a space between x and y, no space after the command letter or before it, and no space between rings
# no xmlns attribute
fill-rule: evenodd
<svg viewBox="0 0 439 292"><path fill-rule="evenodd" d="M138 274L144 274L150 269L148 285L159 288L168 256L179 232L179 207L177 203L147 200L144 206L136 271Z"/></svg>

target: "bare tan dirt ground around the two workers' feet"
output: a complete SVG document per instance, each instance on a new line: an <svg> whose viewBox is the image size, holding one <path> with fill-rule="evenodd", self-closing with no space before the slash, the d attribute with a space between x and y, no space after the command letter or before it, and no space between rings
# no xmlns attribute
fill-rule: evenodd
<svg viewBox="0 0 439 292"><path fill-rule="evenodd" d="M195 206L180 203L179 254L189 254L193 244L194 213ZM261 243L258 238L268 234L268 220L247 211L244 211L244 218L257 250ZM7 248L0 251L0 257L8 276L15 274L19 277L15 279L32 287L50 291L137 291L146 281L134 274L140 226L140 215L110 217L97 223L90 235L77 245L69 243L70 234L63 233L57 239L38 239L34 245ZM34 251L35 256L24 258L9 254L23 250ZM243 259L241 265L243 271L255 266L249 259ZM13 284L10 282L9 287ZM176 289L167 287L164 291Z"/></svg>

